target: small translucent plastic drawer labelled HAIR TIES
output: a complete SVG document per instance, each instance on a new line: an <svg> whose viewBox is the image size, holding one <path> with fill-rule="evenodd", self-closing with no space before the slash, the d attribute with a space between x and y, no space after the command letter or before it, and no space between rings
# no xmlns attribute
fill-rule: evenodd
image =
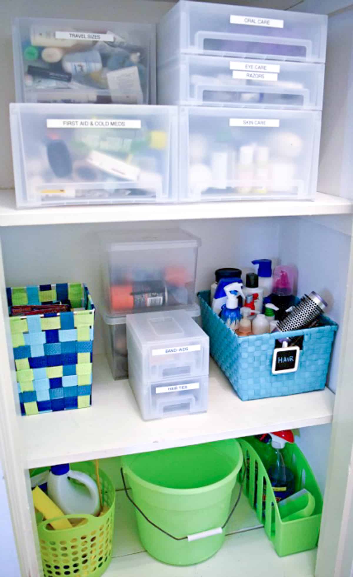
<svg viewBox="0 0 353 577"><path fill-rule="evenodd" d="M143 383L136 367L129 362L129 383L145 420L207 411L208 374L168 383Z"/></svg>

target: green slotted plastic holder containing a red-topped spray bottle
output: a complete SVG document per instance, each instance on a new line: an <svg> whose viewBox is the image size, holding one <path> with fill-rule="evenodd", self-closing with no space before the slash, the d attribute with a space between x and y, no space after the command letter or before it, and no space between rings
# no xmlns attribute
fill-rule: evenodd
<svg viewBox="0 0 353 577"><path fill-rule="evenodd" d="M295 474L295 491L307 489L315 498L315 509L310 517L293 521L283 521L278 511L266 467L269 465L269 447L254 437L238 439L243 451L244 462L239 473L242 478L247 467L243 491L265 526L267 537L273 542L280 557L299 553L317 546L322 512L322 496L313 471L293 443L287 443L282 451L284 462Z"/></svg>

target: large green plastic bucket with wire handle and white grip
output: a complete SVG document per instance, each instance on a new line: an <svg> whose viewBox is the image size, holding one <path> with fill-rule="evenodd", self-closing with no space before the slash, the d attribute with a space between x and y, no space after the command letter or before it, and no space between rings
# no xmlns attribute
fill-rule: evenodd
<svg viewBox="0 0 353 577"><path fill-rule="evenodd" d="M124 456L122 467L141 510L136 517L147 552L171 565L199 563L217 552L242 463L240 445L233 439ZM177 541L143 515L173 537L194 539L214 529L218 534Z"/></svg>

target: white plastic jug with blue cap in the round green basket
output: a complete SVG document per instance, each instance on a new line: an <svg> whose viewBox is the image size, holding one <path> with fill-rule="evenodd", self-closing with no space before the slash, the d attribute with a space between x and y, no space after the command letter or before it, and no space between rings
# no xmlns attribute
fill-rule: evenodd
<svg viewBox="0 0 353 577"><path fill-rule="evenodd" d="M70 479L79 481L73 483ZM99 493L96 482L86 473L73 471L68 464L51 467L47 480L48 496L65 515L99 513Z"/></svg>

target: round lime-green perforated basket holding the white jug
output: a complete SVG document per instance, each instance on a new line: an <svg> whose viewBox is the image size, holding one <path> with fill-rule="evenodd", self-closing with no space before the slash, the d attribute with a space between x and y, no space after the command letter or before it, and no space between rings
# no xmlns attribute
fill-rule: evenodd
<svg viewBox="0 0 353 577"><path fill-rule="evenodd" d="M71 467L96 481L94 463L75 463ZM34 471L33 474L38 472ZM86 523L64 530L54 531L48 527L50 519L39 523L37 528L44 577L100 577L109 566L112 559L115 489L108 475L101 470L99 478L103 505L109 507L104 515L65 515L66 519L83 519Z"/></svg>

